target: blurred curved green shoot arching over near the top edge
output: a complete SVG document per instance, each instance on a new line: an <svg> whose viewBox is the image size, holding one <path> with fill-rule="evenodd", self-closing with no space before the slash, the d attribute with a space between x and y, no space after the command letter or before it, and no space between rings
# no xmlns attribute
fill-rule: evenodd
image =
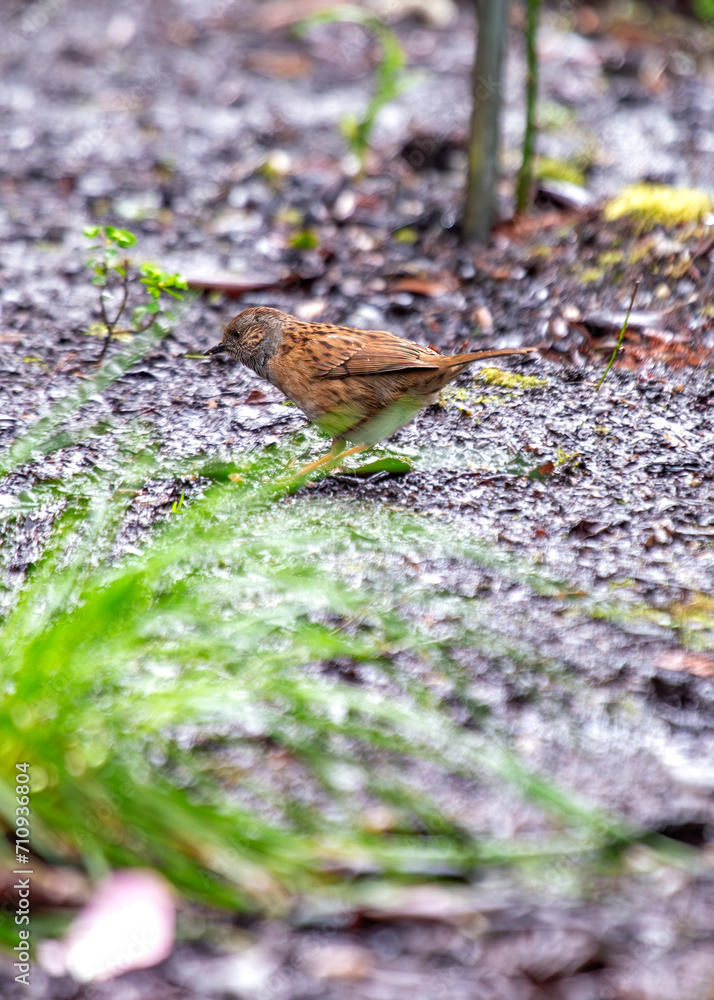
<svg viewBox="0 0 714 1000"><path fill-rule="evenodd" d="M340 124L342 134L347 139L352 152L359 158L364 170L377 115L386 104L399 97L409 85L409 80L403 73L406 57L396 35L384 21L369 11L350 4L333 7L330 10L321 10L299 24L296 31L302 36L315 25L335 24L344 21L361 24L374 35L382 48L382 58L375 70L374 93L364 114L359 118L347 115Z"/></svg>

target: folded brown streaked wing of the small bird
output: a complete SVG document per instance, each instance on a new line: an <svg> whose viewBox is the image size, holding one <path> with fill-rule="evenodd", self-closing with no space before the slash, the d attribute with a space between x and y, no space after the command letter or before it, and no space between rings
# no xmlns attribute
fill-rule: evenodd
<svg viewBox="0 0 714 1000"><path fill-rule="evenodd" d="M386 330L360 331L358 337L344 333L320 336L320 351L315 355L315 368L323 378L439 367L431 360L438 356L434 351Z"/></svg>

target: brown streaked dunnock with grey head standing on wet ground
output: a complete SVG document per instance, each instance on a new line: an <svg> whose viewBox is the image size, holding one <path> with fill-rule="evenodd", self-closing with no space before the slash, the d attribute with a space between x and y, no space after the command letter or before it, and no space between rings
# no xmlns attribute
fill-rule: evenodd
<svg viewBox="0 0 714 1000"><path fill-rule="evenodd" d="M258 306L239 313L206 354L226 352L252 368L332 435L332 452L302 474L381 441L474 361L535 349L442 355L386 330L304 323ZM346 441L357 446L346 451Z"/></svg>

